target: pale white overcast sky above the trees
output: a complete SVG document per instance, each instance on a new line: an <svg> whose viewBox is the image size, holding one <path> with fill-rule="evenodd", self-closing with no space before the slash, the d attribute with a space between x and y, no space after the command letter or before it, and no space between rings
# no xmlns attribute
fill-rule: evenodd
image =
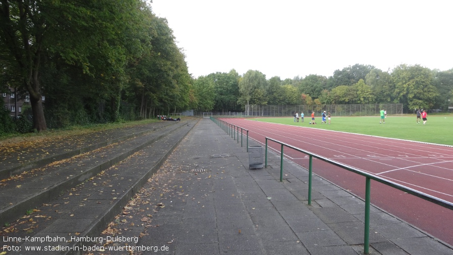
<svg viewBox="0 0 453 255"><path fill-rule="evenodd" d="M453 1L153 0L194 78L331 76L355 64L453 68Z"/></svg>

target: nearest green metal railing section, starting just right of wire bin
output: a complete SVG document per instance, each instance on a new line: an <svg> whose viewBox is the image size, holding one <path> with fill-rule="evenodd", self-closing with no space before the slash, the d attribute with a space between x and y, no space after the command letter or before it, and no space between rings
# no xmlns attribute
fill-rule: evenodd
<svg viewBox="0 0 453 255"><path fill-rule="evenodd" d="M440 198L432 196L432 195L425 194L425 193L420 192L418 190L415 190L415 189L400 185L400 184L392 182L392 181L385 180L385 179L383 179L383 178L381 178L379 176L368 174L368 173L363 172L362 170L359 170L357 168L346 166L346 165L344 165L342 163L339 163L339 162L324 158L322 156L313 154L310 151L307 151L307 150L292 146L290 144L287 144L287 143L284 143L284 142L281 142L281 141L278 141L278 140L275 140L275 139L272 139L272 138L269 138L269 137L266 137L266 149L265 149L265 156L264 156L264 158L265 158L265 165L264 166L265 167L267 167L267 141L268 140L276 142L276 143L280 144L280 146L281 146L281 148L280 148L280 181L283 181L283 158L284 158L283 148L284 148L284 146L289 147L291 149L294 149L296 151L302 152L303 154L306 154L306 155L309 156L309 167L308 167L308 172L309 172L309 177L308 177L308 205L311 205L312 160L313 160L313 158L322 160L322 161L327 162L327 163L329 163L331 165L346 169L346 170L348 170L350 172L353 172L353 173L356 173L356 174L359 174L359 175L362 175L362 176L365 177L365 179L366 179L366 181L365 181L365 222L364 222L364 224L365 224L365 235L364 235L364 251L363 251L365 254L369 254L369 245L370 245L371 180L375 180L375 181L383 183L383 184L385 184L387 186L402 190L402 191L404 191L406 193L415 195L417 197L420 197L422 199L425 199L427 201L435 203L436 205L439 205L441 207L447 208L449 210L453 210L453 203L448 202L446 200L440 199Z"/></svg>

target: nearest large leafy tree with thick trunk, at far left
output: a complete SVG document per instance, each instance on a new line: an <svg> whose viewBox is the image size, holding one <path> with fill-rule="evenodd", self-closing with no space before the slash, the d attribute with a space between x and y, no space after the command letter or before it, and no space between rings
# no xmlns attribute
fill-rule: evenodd
<svg viewBox="0 0 453 255"><path fill-rule="evenodd" d="M141 7L139 0L0 2L0 39L14 56L20 89L30 96L36 130L47 128L42 89L55 86L42 80L42 67L59 59L78 67L80 75L103 80L97 84L97 91L107 94L110 109L118 111L126 81L125 38L133 30L130 25L137 24L135 15ZM134 41L128 43L136 45Z"/></svg>

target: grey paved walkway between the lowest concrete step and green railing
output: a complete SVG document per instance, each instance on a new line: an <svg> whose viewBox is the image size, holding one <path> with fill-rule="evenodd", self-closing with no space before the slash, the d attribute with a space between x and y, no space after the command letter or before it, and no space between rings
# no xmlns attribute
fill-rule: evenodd
<svg viewBox="0 0 453 255"><path fill-rule="evenodd" d="M363 254L364 202L314 177L307 206L308 171L285 162L279 182L279 162L271 155L268 168L249 170L246 146L203 119L100 236L104 244L113 234L137 242L112 241L95 254L125 254L108 250L125 245L178 255ZM371 212L370 254L453 254L399 219Z"/></svg>

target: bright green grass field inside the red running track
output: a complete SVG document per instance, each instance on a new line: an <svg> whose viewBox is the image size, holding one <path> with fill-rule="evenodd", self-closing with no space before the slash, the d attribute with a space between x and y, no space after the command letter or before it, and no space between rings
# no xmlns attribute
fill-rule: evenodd
<svg viewBox="0 0 453 255"><path fill-rule="evenodd" d="M315 118L316 125L309 125L311 117L305 122L295 123L293 117L256 118L257 121L320 128L350 133L376 135L413 141L453 145L453 116L428 115L426 125L416 123L416 117L387 116L385 124L379 124L380 117L332 117L330 125L321 124L321 117ZM328 121L327 121L328 122Z"/></svg>

